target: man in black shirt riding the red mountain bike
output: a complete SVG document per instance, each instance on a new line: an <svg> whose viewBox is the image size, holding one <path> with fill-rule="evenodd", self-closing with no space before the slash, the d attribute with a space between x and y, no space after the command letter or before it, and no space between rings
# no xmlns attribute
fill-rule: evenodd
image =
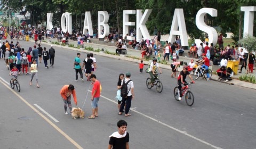
<svg viewBox="0 0 256 149"><path fill-rule="evenodd" d="M193 81L193 78L190 76L189 74L189 71L188 71L188 68L189 66L187 65L184 65L183 66L183 70L180 71L180 75L178 77L178 88L179 88L179 91L178 91L178 94L179 94L179 101L181 100L181 97L182 97L182 93L181 93L181 84L185 85L187 84L187 81L186 81L186 77L188 75L188 77L190 78L190 80L195 83L195 81Z"/></svg>

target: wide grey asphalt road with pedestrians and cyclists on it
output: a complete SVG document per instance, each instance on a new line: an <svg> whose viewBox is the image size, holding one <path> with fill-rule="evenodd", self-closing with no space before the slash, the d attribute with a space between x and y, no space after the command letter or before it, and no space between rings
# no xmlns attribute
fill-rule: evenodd
<svg viewBox="0 0 256 149"><path fill-rule="evenodd" d="M33 46L20 43L26 51ZM42 47L50 48L44 43ZM191 88L195 103L189 107L183 99L174 100L177 80L170 77L170 70L162 70L159 78L164 89L157 93L155 87L146 87L146 66L139 73L138 63L105 56L94 56L98 64L95 74L102 85L99 117L73 120L64 114L59 90L73 84L78 106L85 102L83 110L88 117L91 92L87 99L86 94L92 87L89 81L74 81L77 52L54 48L54 68L45 69L43 63L39 64L41 87L36 88L35 80L29 86L30 76L21 74L20 93L7 84L11 77L4 60L0 60L0 148L107 148L109 136L117 131L116 122L120 119L128 123L130 148L256 148L255 90L198 79ZM81 61L85 57L86 53L82 53ZM119 73L127 71L135 86L131 117L118 115L114 100Z"/></svg>

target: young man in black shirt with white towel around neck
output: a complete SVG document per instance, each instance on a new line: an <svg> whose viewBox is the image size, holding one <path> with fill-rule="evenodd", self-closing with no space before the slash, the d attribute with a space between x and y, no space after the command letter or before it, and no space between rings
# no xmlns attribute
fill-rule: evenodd
<svg viewBox="0 0 256 149"><path fill-rule="evenodd" d="M119 120L117 127L118 131L109 136L108 149L129 149L129 133L126 132L127 122Z"/></svg>

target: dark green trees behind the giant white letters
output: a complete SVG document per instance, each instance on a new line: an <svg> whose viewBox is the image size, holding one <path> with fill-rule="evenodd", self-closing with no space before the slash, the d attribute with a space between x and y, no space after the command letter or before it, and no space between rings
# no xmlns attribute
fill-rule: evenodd
<svg viewBox="0 0 256 149"><path fill-rule="evenodd" d="M9 3L10 2L10 3ZM11 12L20 12L25 8L34 15L35 24L46 21L46 13L53 12L53 25L60 26L61 14L70 12L73 15L73 28L82 29L85 11L92 14L93 26L98 22L98 11L109 13L108 24L110 28L122 29L123 10L152 9L146 23L148 30L153 34L154 30L162 34L169 34L173 13L175 9L183 9L187 33L191 38L203 38L204 32L196 27L196 13L203 7L211 7L218 10L218 16L205 16L205 22L224 36L226 32L234 33L235 41L242 37L244 13L240 11L241 6L254 6L255 0L0 0L2 9L10 6ZM31 18L30 18L31 19ZM130 20L135 21L135 15ZM255 24L255 21L254 21ZM254 32L255 32L254 28Z"/></svg>

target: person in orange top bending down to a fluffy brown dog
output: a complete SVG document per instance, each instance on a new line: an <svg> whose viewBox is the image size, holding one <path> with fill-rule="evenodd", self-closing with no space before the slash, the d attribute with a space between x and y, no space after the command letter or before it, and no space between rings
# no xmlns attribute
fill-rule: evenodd
<svg viewBox="0 0 256 149"><path fill-rule="evenodd" d="M69 108L70 112L72 111L71 94L74 97L75 105L77 105L76 91L75 91L74 85L71 85L71 84L70 85L65 85L60 90L60 95L61 95L62 100L64 102L64 110L65 110L66 115L68 114L67 105L68 105L68 108Z"/></svg>

